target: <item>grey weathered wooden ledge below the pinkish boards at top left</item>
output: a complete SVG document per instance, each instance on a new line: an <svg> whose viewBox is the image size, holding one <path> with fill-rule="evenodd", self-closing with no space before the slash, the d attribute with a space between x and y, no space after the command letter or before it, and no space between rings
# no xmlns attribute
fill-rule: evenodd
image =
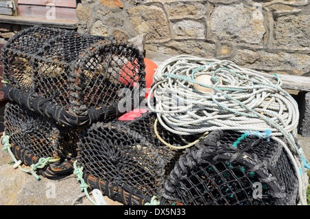
<svg viewBox="0 0 310 219"><path fill-rule="evenodd" d="M43 25L50 28L65 28L65 29L75 29L77 26L76 20L70 19L45 19L38 17L24 17L24 16L6 16L0 15L0 25L1 23L14 23L21 25Z"/></svg>

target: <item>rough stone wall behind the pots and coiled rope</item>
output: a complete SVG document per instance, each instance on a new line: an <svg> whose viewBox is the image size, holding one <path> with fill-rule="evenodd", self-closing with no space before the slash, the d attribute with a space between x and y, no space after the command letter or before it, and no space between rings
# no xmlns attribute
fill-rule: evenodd
<svg viewBox="0 0 310 219"><path fill-rule="evenodd" d="M310 76L309 7L309 0L85 0L76 14L82 33L145 33L154 52Z"/></svg>

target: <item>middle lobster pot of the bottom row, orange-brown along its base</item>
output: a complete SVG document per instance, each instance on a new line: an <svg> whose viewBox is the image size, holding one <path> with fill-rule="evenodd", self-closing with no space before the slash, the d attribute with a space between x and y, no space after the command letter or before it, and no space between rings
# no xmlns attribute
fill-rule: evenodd
<svg viewBox="0 0 310 219"><path fill-rule="evenodd" d="M124 205L144 205L159 196L169 171L183 154L158 140L156 114L136 116L132 121L96 123L81 132L78 143L77 165L83 167L87 185ZM167 143L184 144L179 136L157 128Z"/></svg>

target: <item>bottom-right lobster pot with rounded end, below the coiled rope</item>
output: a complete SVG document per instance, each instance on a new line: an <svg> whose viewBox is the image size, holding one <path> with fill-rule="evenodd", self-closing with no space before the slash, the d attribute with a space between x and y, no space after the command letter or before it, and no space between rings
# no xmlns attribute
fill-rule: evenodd
<svg viewBox="0 0 310 219"><path fill-rule="evenodd" d="M296 205L298 179L285 150L272 139L240 136L211 132L181 156L165 183L163 203Z"/></svg>

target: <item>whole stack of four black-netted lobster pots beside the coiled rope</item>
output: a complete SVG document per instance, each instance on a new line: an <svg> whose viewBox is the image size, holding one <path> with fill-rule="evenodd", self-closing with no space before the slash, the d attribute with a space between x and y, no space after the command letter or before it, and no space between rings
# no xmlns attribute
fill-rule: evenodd
<svg viewBox="0 0 310 219"><path fill-rule="evenodd" d="M234 131L196 141L158 123L134 45L33 27L2 57L4 135L24 165L51 158L37 174L59 179L82 168L88 189L124 205L296 204L297 178L275 141Z"/></svg>

